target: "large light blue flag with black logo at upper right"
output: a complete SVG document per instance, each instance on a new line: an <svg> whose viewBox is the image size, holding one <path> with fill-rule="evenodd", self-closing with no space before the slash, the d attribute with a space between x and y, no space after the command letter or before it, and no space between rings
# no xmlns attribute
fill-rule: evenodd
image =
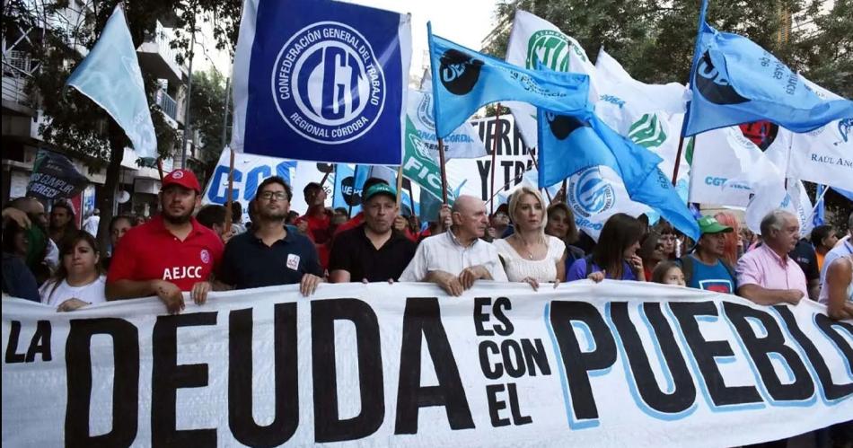
<svg viewBox="0 0 853 448"><path fill-rule="evenodd" d="M690 70L693 96L684 136L763 119L803 133L853 117L853 101L822 99L752 40L709 26L706 7L707 1Z"/></svg>

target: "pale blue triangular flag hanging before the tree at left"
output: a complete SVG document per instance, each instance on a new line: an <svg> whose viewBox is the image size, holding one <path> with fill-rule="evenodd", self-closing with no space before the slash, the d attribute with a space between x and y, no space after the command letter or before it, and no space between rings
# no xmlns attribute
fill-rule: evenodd
<svg viewBox="0 0 853 448"><path fill-rule="evenodd" d="M157 157L157 136L145 97L145 84L121 4L112 12L101 39L75 68L66 85L106 110L124 129L139 157Z"/></svg>

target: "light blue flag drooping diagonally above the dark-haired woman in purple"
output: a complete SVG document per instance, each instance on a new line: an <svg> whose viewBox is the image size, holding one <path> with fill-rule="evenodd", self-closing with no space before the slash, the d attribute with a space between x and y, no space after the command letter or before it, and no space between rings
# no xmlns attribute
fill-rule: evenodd
<svg viewBox="0 0 853 448"><path fill-rule="evenodd" d="M646 147L620 136L594 113L570 117L539 109L539 187L547 188L594 166L607 166L622 180L629 198L651 207L694 240L699 226L672 182Z"/></svg>

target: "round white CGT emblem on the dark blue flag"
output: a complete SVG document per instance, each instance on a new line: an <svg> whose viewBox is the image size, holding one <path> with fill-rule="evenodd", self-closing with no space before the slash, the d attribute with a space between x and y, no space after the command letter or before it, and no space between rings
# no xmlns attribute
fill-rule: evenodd
<svg viewBox="0 0 853 448"><path fill-rule="evenodd" d="M297 31L278 52L272 94L287 126L313 142L363 136L382 115L385 75L370 42L339 22Z"/></svg>

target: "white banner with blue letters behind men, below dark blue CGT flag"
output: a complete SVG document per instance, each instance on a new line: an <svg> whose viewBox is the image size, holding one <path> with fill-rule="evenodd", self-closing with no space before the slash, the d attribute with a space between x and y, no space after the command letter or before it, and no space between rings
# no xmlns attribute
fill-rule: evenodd
<svg viewBox="0 0 853 448"><path fill-rule="evenodd" d="M219 155L213 176L207 183L202 204L218 204L224 206L228 200L228 168L231 149L225 148ZM272 176L280 176L288 184L293 185L296 162L266 157L263 155L234 152L234 185L233 200L242 206L243 222L249 221L249 201L255 197L258 185ZM321 178L320 178L321 179ZM301 195L302 192L300 191Z"/></svg>

